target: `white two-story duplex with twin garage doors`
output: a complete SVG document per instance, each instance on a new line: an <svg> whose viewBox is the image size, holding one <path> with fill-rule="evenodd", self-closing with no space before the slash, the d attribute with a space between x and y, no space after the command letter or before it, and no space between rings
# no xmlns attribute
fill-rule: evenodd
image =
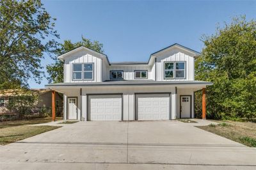
<svg viewBox="0 0 256 170"><path fill-rule="evenodd" d="M194 79L199 54L175 43L147 62L110 63L105 54L78 47L58 56L64 82L46 87L64 94L65 120L194 118L194 92L199 89L204 89L205 118L205 87L212 82Z"/></svg>

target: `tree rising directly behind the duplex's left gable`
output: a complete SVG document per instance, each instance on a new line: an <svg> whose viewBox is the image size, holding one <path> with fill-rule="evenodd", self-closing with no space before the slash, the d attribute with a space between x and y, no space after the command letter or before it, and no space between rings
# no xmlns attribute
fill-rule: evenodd
<svg viewBox="0 0 256 170"><path fill-rule="evenodd" d="M52 59L54 59L55 63L47 65L46 67L47 73L49 73L49 77L47 77L49 83L63 82L63 62L60 61L57 56L60 56L61 54L76 49L80 46L87 47L88 49L92 49L97 52L103 52L102 43L99 43L98 41L92 42L91 40L84 38L83 36L82 40L76 43L72 43L70 40L65 40L64 43L60 45L60 48L54 51L54 54L56 54L56 56L54 56Z"/></svg>

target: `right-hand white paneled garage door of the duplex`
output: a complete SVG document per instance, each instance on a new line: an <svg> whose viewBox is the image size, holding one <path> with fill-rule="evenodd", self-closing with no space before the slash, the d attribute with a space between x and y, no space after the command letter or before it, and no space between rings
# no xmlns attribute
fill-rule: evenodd
<svg viewBox="0 0 256 170"><path fill-rule="evenodd" d="M138 120L169 120L170 94L136 95Z"/></svg>

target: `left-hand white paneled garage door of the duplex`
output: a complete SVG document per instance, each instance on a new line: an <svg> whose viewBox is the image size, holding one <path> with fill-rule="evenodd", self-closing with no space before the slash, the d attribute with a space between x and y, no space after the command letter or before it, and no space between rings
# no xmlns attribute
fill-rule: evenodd
<svg viewBox="0 0 256 170"><path fill-rule="evenodd" d="M122 95L89 96L89 120L122 120Z"/></svg>

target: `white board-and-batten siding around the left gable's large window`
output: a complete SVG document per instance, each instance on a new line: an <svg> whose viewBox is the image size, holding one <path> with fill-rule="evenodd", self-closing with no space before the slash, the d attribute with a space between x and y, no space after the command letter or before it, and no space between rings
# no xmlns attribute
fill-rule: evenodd
<svg viewBox="0 0 256 170"><path fill-rule="evenodd" d="M93 63L94 72L93 80L72 80L72 64L73 63ZM70 56L65 59L65 82L101 82L102 81L102 59L93 56L92 54L76 54L76 56Z"/></svg>

